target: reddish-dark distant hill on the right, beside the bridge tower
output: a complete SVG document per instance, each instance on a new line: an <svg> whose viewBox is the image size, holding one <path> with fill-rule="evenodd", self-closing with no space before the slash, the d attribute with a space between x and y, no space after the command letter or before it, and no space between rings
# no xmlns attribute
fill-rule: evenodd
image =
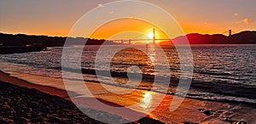
<svg viewBox="0 0 256 124"><path fill-rule="evenodd" d="M188 34L186 36L176 37L172 42L184 44L186 38L190 44L256 44L256 31L241 31L240 33L226 37L220 34L202 35L198 33ZM160 42L162 45L172 44L171 41Z"/></svg>

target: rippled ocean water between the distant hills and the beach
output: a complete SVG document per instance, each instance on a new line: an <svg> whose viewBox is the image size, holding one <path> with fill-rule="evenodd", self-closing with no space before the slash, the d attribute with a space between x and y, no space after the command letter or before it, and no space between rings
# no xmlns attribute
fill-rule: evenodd
<svg viewBox="0 0 256 124"><path fill-rule="evenodd" d="M174 47L162 47L170 65L170 70L159 73L154 70L154 47L139 46L147 54L136 48L124 48L109 59L113 49L122 46L106 46L106 50L99 59L100 66L95 67L96 55L100 46L83 46L82 56L76 49L82 46L72 46L73 51L65 54L67 58L80 57L81 63L76 59L69 59L69 70L81 68L86 82L97 82L95 70L111 70L113 77L105 77L103 83L117 87L139 88L153 90L158 93L168 94L176 92L177 81L181 76L181 63L177 49ZM61 78L61 55L63 48L48 48L47 51L24 54L1 54L0 62L9 63L9 66L0 66L1 70L18 71L21 73L38 76L52 76ZM245 102L256 104L256 45L195 45L191 46L193 54L193 80L188 98L210 99L230 102ZM188 53L188 49L182 48L182 54ZM79 66L81 64L81 66ZM110 69L107 65L110 65ZM140 70L132 70L136 65ZM158 62L156 65L163 65ZM137 82L129 82L126 72L131 74L143 74L143 82L137 87ZM75 72L73 72L76 75ZM152 89L154 76L171 76L170 87L161 84ZM113 78L113 80L110 80ZM163 82L165 83L165 82Z"/></svg>

